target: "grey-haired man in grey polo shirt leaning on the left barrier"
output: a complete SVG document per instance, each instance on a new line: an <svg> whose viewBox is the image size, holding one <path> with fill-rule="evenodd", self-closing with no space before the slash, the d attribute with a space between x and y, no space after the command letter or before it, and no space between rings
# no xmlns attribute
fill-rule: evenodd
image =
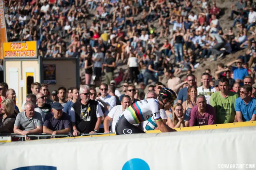
<svg viewBox="0 0 256 170"><path fill-rule="evenodd" d="M34 111L35 105L32 102L25 103L25 111L17 115L13 132L20 135L42 133L43 121L40 113ZM27 137L29 140L30 138Z"/></svg>

